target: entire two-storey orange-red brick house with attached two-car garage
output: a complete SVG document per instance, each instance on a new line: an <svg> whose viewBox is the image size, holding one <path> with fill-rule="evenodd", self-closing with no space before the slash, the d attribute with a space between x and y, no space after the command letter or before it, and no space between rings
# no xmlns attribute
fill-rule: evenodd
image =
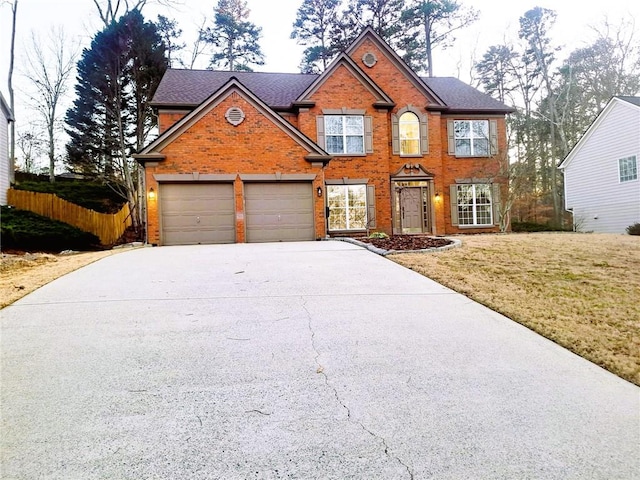
<svg viewBox="0 0 640 480"><path fill-rule="evenodd" d="M169 69L144 167L161 245L498 231L513 109L370 28L320 75Z"/></svg>

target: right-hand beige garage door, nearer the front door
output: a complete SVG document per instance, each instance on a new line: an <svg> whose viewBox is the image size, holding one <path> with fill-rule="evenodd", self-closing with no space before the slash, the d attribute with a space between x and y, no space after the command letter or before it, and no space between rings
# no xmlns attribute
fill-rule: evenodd
<svg viewBox="0 0 640 480"><path fill-rule="evenodd" d="M311 183L247 183L247 242L313 240Z"/></svg>

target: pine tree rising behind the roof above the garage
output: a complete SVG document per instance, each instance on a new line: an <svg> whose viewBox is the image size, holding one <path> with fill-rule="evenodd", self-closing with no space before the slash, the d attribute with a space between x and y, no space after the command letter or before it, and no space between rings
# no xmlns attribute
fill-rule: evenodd
<svg viewBox="0 0 640 480"><path fill-rule="evenodd" d="M262 29L248 21L245 0L219 0L215 8L213 28L206 28L202 39L213 46L213 68L252 71L252 65L264 65L260 49Z"/></svg>

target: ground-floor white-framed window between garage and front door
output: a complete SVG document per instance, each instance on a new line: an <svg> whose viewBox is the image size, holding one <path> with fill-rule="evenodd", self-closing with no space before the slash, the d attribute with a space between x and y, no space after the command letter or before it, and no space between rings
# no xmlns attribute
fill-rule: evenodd
<svg viewBox="0 0 640 480"><path fill-rule="evenodd" d="M327 185L329 230L367 228L367 186Z"/></svg>

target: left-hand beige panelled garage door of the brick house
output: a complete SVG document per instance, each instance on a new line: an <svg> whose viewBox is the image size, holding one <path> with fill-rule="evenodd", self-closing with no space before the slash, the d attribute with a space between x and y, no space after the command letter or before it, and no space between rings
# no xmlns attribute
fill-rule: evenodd
<svg viewBox="0 0 640 480"><path fill-rule="evenodd" d="M165 183L160 185L163 245L233 243L233 184Z"/></svg>

